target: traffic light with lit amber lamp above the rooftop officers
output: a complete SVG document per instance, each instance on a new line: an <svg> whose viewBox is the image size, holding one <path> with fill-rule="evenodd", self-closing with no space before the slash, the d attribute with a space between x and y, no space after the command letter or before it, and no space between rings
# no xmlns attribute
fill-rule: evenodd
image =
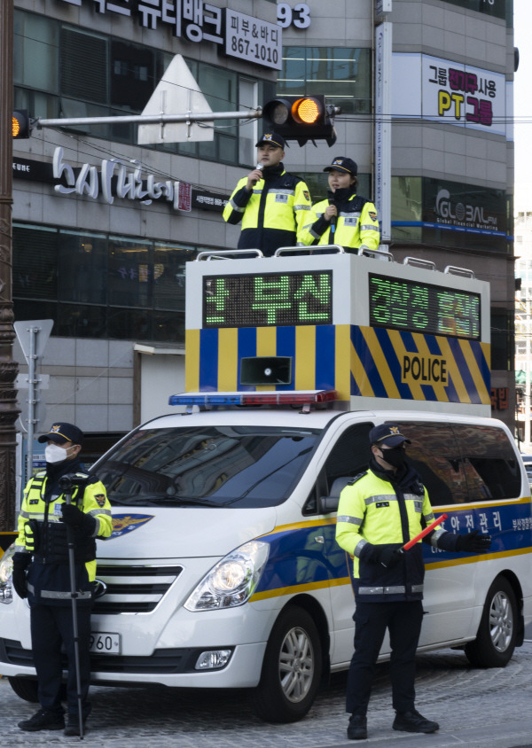
<svg viewBox="0 0 532 748"><path fill-rule="evenodd" d="M308 140L336 143L334 115L337 106L328 105L325 96L286 96L274 98L262 107L265 127L273 129L285 140L297 140L304 145Z"/></svg>

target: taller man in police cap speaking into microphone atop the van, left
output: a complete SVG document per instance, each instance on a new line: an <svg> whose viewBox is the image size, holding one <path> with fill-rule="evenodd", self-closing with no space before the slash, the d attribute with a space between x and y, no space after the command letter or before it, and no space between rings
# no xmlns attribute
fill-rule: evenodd
<svg viewBox="0 0 532 748"><path fill-rule="evenodd" d="M242 222L239 249L260 249L270 257L280 246L302 243L311 201L303 180L285 171L283 136L264 133L256 148L257 166L239 180L223 220Z"/></svg>

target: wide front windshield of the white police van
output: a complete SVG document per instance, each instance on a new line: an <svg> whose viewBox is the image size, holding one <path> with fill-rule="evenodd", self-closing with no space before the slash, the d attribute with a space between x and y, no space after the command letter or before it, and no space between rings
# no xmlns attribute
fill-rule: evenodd
<svg viewBox="0 0 532 748"><path fill-rule="evenodd" d="M145 429L98 464L123 506L265 507L285 501L319 429L223 426Z"/></svg>

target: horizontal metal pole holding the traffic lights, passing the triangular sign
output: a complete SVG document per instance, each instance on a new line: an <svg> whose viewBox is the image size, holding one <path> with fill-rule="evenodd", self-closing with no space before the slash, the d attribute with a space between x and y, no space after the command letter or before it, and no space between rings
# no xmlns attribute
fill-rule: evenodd
<svg viewBox="0 0 532 748"><path fill-rule="evenodd" d="M4 2L4 0L3 0ZM11 110L10 110L11 111ZM67 128L76 125L113 125L137 122L140 125L168 124L170 122L208 122L215 120L256 120L262 117L262 107L248 109L247 112L208 112L193 114L125 114L119 117L65 117L46 120L37 117L33 125L37 128Z"/></svg>

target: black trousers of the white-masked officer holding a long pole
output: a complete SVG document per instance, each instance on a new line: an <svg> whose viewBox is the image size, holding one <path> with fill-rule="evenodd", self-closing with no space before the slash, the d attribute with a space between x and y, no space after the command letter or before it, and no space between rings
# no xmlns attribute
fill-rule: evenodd
<svg viewBox="0 0 532 748"><path fill-rule="evenodd" d="M74 622L72 607L32 605L30 608L31 643L37 671L39 701L43 709L62 714L61 706L61 643L66 651L68 678L66 700L69 714L77 715L78 697L74 657ZM90 713L87 701L90 682L90 605L77 606L82 715Z"/></svg>

